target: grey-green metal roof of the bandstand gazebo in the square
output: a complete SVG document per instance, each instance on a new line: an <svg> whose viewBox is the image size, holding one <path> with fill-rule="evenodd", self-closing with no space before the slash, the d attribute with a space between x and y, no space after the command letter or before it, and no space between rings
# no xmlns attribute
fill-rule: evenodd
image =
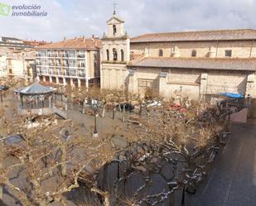
<svg viewBox="0 0 256 206"><path fill-rule="evenodd" d="M39 83L34 83L28 86L27 88L17 89L17 93L22 94L43 94L43 93L52 93L53 89L51 87L45 87Z"/></svg>

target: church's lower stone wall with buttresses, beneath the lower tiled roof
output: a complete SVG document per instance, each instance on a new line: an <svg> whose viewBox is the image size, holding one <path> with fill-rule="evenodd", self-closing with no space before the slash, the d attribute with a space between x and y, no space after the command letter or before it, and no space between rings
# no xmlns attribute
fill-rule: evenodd
<svg viewBox="0 0 256 206"><path fill-rule="evenodd" d="M129 76L129 92L141 93L139 80L157 80L157 89L164 98L176 95L200 99L205 94L246 93L247 73L244 71L206 70L206 69L164 69L166 77L159 76L160 68L136 68ZM142 94L142 93L141 93Z"/></svg>

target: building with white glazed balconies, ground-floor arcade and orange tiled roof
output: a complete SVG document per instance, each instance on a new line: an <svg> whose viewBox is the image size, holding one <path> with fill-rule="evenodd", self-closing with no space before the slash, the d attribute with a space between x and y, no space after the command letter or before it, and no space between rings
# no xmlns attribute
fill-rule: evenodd
<svg viewBox="0 0 256 206"><path fill-rule="evenodd" d="M36 75L40 81L88 88L99 84L101 41L75 37L36 47Z"/></svg>

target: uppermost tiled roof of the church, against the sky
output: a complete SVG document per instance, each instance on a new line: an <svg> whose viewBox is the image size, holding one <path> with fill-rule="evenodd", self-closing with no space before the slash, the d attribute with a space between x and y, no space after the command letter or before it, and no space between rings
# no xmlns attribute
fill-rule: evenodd
<svg viewBox="0 0 256 206"><path fill-rule="evenodd" d="M152 33L135 36L131 43L148 41L234 41L256 40L256 30L212 30L212 31L183 31L171 33Z"/></svg>

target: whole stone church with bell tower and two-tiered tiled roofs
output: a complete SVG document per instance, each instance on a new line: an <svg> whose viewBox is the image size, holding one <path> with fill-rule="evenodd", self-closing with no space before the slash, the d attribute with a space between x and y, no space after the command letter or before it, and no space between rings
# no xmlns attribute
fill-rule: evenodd
<svg viewBox="0 0 256 206"><path fill-rule="evenodd" d="M256 104L256 30L152 33L129 38L114 12L102 38L102 89L168 99L242 93Z"/></svg>

